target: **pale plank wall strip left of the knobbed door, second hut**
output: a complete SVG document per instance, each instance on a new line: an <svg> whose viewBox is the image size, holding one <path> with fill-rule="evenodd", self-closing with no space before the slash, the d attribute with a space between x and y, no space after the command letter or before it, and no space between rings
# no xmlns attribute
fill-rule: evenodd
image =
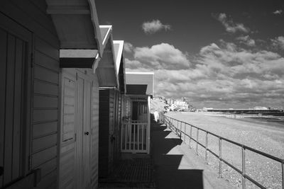
<svg viewBox="0 0 284 189"><path fill-rule="evenodd" d="M70 71L72 70L72 71ZM59 188L76 188L76 72L62 69Z"/></svg>

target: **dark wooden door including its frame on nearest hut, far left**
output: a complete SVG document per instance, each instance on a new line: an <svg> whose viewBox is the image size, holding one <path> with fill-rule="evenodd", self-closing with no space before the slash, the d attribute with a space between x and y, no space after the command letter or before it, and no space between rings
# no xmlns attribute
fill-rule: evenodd
<svg viewBox="0 0 284 189"><path fill-rule="evenodd" d="M28 172L32 35L0 13L0 188Z"/></svg>

